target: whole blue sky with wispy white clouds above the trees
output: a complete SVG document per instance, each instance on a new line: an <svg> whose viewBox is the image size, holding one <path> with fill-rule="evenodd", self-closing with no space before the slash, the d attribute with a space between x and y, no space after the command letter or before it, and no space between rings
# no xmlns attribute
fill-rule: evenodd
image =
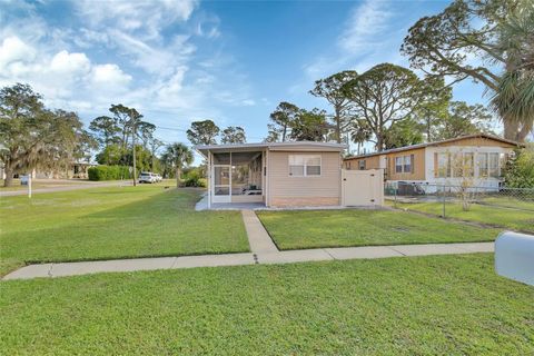
<svg viewBox="0 0 534 356"><path fill-rule="evenodd" d="M279 101L328 109L308 93L314 80L407 66L407 29L448 2L0 0L0 86L29 82L86 123L111 103L136 107L166 142L187 142L206 118L260 141ZM486 102L483 89L454 96Z"/></svg>

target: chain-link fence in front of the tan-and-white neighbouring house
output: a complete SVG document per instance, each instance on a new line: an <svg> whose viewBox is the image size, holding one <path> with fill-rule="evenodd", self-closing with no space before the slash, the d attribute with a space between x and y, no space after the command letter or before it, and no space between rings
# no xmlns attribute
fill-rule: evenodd
<svg viewBox="0 0 534 356"><path fill-rule="evenodd" d="M532 211L534 217L534 189L431 185L424 182L390 182L384 187L386 204L395 208L417 210L447 217L447 212L506 209ZM487 210L485 210L487 211Z"/></svg>

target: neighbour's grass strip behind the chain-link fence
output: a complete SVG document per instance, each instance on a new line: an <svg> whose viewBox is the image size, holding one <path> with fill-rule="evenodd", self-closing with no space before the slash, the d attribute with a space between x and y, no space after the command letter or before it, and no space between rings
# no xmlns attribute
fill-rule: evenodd
<svg viewBox="0 0 534 356"><path fill-rule="evenodd" d="M518 201L515 206L518 209L508 209L503 206L510 204L510 200L488 198L488 205L471 205L468 211L464 211L459 204L447 202L445 205L445 216L465 221L474 221L502 226L507 229L534 233L534 207L530 202ZM492 206L492 204L501 206ZM387 201L393 206L393 201ZM398 202L397 208L422 211L437 216L443 215L443 205L435 201L428 202ZM531 209L531 210L528 210Z"/></svg>

